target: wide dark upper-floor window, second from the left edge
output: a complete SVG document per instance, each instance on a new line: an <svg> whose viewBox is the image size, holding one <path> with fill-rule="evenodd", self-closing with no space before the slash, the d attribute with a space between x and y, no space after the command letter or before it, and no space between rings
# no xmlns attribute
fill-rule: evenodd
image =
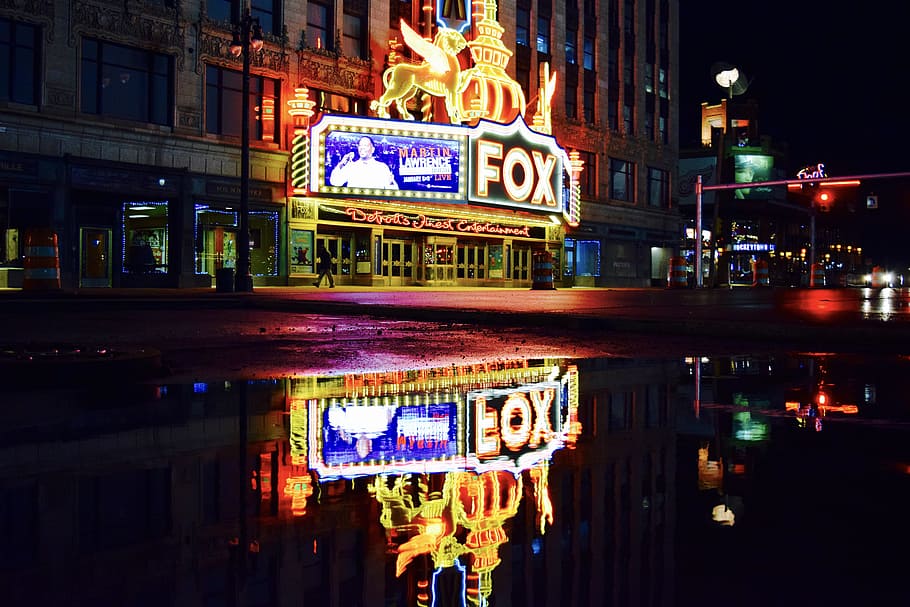
<svg viewBox="0 0 910 607"><path fill-rule="evenodd" d="M170 126L174 60L101 40L82 41L82 111Z"/></svg>

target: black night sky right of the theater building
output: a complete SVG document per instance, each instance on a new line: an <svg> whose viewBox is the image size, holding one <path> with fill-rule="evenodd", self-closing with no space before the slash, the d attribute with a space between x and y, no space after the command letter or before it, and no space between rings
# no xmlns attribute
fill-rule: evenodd
<svg viewBox="0 0 910 607"><path fill-rule="evenodd" d="M787 142L794 170L831 176L910 171L910 3L682 0L680 143L700 103L725 95L711 66L741 66L759 130Z"/></svg>

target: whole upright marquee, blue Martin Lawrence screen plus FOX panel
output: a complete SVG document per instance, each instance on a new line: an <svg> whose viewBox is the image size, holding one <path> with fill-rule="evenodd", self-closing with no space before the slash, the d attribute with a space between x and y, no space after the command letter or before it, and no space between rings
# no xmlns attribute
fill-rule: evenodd
<svg viewBox="0 0 910 607"><path fill-rule="evenodd" d="M568 156L519 117L477 126L325 115L310 187L332 197L475 203L559 215Z"/></svg>

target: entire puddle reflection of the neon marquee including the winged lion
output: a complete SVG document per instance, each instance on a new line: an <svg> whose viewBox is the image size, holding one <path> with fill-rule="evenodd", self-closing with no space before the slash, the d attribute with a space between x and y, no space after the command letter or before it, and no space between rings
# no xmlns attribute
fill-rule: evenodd
<svg viewBox="0 0 910 607"><path fill-rule="evenodd" d="M496 413L499 423L480 423L482 434L470 429L478 415L468 402L483 420ZM307 499L318 490L311 472L320 481L373 475L368 488L381 507L396 576L407 574L417 604L483 605L521 500L529 500L541 535L553 524L548 460L578 438L577 406L577 367L552 360L293 379L284 495L291 514L305 516ZM417 451L389 461L326 464L332 433L376 439L390 428L396 442L404 437ZM514 457L478 451L476 442L494 431ZM454 450L440 452L443 437ZM421 451L420 441L429 451Z"/></svg>

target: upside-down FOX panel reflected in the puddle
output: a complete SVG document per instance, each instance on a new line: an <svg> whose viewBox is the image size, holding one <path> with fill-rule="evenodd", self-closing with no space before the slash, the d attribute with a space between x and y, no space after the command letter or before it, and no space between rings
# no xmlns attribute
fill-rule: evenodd
<svg viewBox="0 0 910 607"><path fill-rule="evenodd" d="M468 455L493 468L525 469L564 445L562 384L468 393Z"/></svg>

